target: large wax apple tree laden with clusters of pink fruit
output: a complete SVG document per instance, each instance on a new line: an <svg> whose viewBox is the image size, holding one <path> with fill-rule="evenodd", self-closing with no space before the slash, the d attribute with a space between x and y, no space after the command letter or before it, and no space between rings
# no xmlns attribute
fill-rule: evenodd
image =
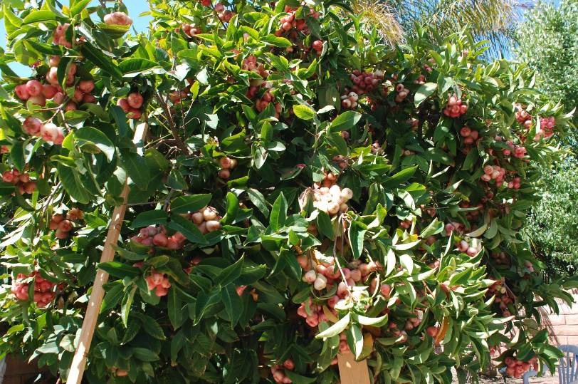
<svg viewBox="0 0 578 384"><path fill-rule="evenodd" d="M149 4L137 36L122 3L4 4L3 353L65 380L100 268L89 383L553 367L537 308L574 282L518 229L570 116L527 66L468 31L386 46L338 1Z"/></svg>

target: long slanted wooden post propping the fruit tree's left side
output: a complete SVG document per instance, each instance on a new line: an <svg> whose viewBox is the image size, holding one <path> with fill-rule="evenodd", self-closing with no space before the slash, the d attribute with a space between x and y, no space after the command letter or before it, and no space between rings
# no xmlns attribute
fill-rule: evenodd
<svg viewBox="0 0 578 384"><path fill-rule="evenodd" d="M136 143L144 140L145 135L147 135L147 130L148 125L146 123L137 125L133 141ZM126 199L128 197L128 192L128 182L125 181L125 188L122 190L122 194L120 194L120 198L124 201L124 204L115 207L115 210L112 212L103 254L100 256L101 263L112 261L115 256L115 250L112 249L112 245L116 245L118 242L120 228L122 227L122 219L125 217L125 212L127 210ZM80 331L80 337L78 338L78 346L76 347L73 362L70 366L70 373L68 374L67 382L70 384L80 384L80 381L83 380L86 358L88 357L88 350L90 349L90 341L93 340L96 320L100 313L100 306L103 303L103 296L105 295L103 284L105 284L107 280L108 274L102 269L98 269L93 291L90 294L90 301L88 301L88 308L86 309L84 316L83 328L82 331Z"/></svg>

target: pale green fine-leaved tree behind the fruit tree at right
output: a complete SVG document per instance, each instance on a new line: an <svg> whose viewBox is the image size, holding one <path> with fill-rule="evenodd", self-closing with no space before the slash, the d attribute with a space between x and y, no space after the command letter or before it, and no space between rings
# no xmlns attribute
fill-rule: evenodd
<svg viewBox="0 0 578 384"><path fill-rule="evenodd" d="M562 0L559 6L538 4L525 13L526 20L517 27L514 55L537 70L541 90L562 100L568 111L578 107L578 1ZM573 120L574 125L578 122ZM577 153L575 127L567 136L566 147ZM540 170L542 201L532 209L526 234L532 239L551 271L572 272L567 263L578 263L577 159L567 157L555 172Z"/></svg>

